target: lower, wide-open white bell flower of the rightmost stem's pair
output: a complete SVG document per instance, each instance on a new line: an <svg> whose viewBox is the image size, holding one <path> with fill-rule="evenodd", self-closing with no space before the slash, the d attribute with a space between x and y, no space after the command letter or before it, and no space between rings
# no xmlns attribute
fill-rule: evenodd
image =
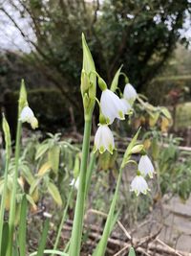
<svg viewBox="0 0 191 256"><path fill-rule="evenodd" d="M147 191L149 191L148 184L146 180L141 175L135 176L135 178L132 180L130 185L130 191L134 191L136 193L136 196L138 196L140 193L145 194Z"/></svg>

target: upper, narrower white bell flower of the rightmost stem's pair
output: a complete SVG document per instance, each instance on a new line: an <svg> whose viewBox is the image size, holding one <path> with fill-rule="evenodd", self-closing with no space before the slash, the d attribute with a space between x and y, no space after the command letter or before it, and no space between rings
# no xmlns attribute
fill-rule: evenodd
<svg viewBox="0 0 191 256"><path fill-rule="evenodd" d="M138 171L143 176L149 175L150 177L153 177L155 170L151 160L146 154L142 155L139 159Z"/></svg>

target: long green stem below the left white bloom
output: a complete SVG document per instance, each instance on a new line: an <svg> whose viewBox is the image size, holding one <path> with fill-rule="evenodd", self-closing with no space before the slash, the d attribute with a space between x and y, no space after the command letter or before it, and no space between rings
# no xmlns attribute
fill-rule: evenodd
<svg viewBox="0 0 191 256"><path fill-rule="evenodd" d="M20 140L21 140L21 121L18 120L17 130L16 130L15 170L14 170L13 186L12 186L12 192L11 192L11 208L10 208L10 219L9 219L10 234L9 234L9 246L8 246L7 256L11 256L12 244L13 244L16 189L17 189L17 177L18 177L19 154L20 154Z"/></svg>

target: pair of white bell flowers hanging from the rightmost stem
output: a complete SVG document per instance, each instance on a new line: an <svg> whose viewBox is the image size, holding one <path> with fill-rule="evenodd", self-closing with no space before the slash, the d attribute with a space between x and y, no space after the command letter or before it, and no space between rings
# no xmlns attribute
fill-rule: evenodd
<svg viewBox="0 0 191 256"><path fill-rule="evenodd" d="M155 170L149 157L145 154L142 155L138 162L138 174L131 182L130 190L135 192L138 196L140 193L146 194L149 191L148 184L145 180L145 176L153 177Z"/></svg>

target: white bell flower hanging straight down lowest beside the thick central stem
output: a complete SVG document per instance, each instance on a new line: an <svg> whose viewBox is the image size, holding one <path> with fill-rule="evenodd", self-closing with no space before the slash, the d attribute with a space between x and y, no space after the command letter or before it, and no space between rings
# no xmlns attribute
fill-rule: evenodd
<svg viewBox="0 0 191 256"><path fill-rule="evenodd" d="M113 153L114 148L114 136L111 129L107 125L100 125L95 135L95 151Z"/></svg>

